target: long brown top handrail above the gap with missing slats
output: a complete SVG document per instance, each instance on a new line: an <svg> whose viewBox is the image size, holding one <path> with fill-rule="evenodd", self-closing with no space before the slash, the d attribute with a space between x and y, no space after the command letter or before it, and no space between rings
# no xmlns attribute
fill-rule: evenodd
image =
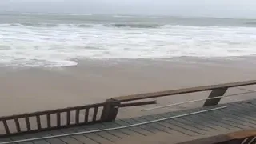
<svg viewBox="0 0 256 144"><path fill-rule="evenodd" d="M159 97L176 95L176 94L186 94L186 93L194 93L194 92L207 91L207 90L215 90L220 88L230 88L230 87L248 86L248 85L256 85L256 80L244 81L244 82L231 82L231 83L224 83L224 84L210 85L210 86L198 86L198 87L184 88L184 89L178 89L178 90L166 90L166 91L159 91L159 92L146 93L146 94L134 94L134 95L115 97L111 99L118 102L129 102L129 101L146 99L146 98L159 98Z"/></svg>

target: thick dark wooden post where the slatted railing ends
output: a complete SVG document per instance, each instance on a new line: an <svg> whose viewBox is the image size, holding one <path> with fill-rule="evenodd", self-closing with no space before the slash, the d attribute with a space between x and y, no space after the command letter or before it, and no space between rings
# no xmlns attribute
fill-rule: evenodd
<svg viewBox="0 0 256 144"><path fill-rule="evenodd" d="M118 115L118 104L120 104L120 102L114 99L106 99L106 104L102 110L102 122L111 122L115 120Z"/></svg>

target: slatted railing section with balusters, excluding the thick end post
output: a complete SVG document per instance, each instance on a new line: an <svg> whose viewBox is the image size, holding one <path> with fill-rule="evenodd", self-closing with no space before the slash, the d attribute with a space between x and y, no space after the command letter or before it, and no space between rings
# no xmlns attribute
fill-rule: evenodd
<svg viewBox="0 0 256 144"><path fill-rule="evenodd" d="M99 110L104 106L105 103L97 103L93 105L2 117L0 118L0 126L2 123L5 133L0 136L101 122L98 115L101 112Z"/></svg>

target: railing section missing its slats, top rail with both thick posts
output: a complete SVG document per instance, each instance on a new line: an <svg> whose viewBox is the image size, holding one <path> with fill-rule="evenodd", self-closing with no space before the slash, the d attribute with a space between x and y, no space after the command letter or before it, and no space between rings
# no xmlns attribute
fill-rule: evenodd
<svg viewBox="0 0 256 144"><path fill-rule="evenodd" d="M177 94L188 94L188 93L211 90L210 95L208 96L209 99L208 98L206 99L206 102L204 103L203 106L215 106L215 105L218 105L218 102L220 102L220 100L222 99L220 97L222 97L226 93L226 90L228 90L229 88L238 87L238 86L249 86L249 85L256 85L256 80L224 83L224 84L210 85L210 86L198 86L198 87L191 87L191 88L178 89L178 90L166 90L166 91L159 91L154 93L134 94L134 95L110 98L106 100L106 102L109 103L110 107L108 108L107 113L104 113L105 114L104 121L113 121L116 118L116 115L118 114L118 107L116 107L116 105L122 102L130 102L130 101L136 101L136 100L142 100L142 99L148 99L148 98L160 98L160 97L172 96ZM253 90L250 90L250 91L251 93L255 92Z"/></svg>

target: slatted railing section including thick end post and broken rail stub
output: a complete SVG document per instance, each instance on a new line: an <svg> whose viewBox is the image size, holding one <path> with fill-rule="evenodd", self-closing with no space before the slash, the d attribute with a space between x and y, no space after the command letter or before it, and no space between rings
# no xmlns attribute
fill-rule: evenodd
<svg viewBox="0 0 256 144"><path fill-rule="evenodd" d="M0 128L3 128L4 132L0 133L0 138L16 134L27 134L111 121L116 118L118 107L142 106L154 103L155 101L125 104L103 102L86 106L67 107L58 110L46 110L30 114L1 117Z"/></svg>

